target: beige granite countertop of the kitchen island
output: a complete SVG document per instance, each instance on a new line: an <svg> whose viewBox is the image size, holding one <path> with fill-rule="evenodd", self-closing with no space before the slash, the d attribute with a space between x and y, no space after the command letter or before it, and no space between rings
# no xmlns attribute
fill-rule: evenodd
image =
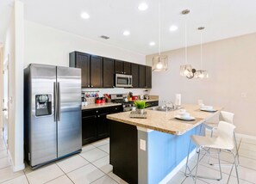
<svg viewBox="0 0 256 184"><path fill-rule="evenodd" d="M182 105L182 107L184 107L184 109L186 109L186 111L190 113L191 116L195 117L196 120L176 120L174 116L178 113L178 110L169 111L166 113L148 109L147 119L129 118L130 112L109 114L107 115L107 119L159 132L166 132L173 135L182 135L185 132L188 132L196 126L202 124L204 121L211 119L222 109L222 107L214 107L218 111L215 113L209 113L201 111L198 105Z"/></svg>

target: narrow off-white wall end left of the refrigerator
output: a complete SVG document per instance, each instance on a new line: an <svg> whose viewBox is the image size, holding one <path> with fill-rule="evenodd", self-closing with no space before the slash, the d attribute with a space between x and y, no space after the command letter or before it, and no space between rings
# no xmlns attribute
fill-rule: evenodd
<svg viewBox="0 0 256 184"><path fill-rule="evenodd" d="M9 55L9 131L8 151L13 170L23 163L23 3L15 1L3 46L3 58Z"/></svg>

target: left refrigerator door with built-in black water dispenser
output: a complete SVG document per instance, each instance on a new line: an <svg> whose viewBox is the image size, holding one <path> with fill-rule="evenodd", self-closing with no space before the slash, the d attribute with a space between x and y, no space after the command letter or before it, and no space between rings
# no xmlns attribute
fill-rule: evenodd
<svg viewBox="0 0 256 184"><path fill-rule="evenodd" d="M54 121L54 83L56 66L30 64L31 121L30 164L32 167L57 158L57 134ZM26 84L25 84L26 85Z"/></svg>

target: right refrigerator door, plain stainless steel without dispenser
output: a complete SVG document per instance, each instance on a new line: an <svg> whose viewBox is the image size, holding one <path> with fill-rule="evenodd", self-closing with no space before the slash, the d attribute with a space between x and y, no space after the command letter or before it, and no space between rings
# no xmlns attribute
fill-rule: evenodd
<svg viewBox="0 0 256 184"><path fill-rule="evenodd" d="M58 157L82 148L81 69L57 67Z"/></svg>

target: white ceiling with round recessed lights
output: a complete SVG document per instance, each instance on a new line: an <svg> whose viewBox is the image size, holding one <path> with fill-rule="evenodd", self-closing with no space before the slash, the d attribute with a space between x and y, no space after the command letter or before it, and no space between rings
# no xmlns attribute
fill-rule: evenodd
<svg viewBox="0 0 256 184"><path fill-rule="evenodd" d="M9 0L1 0L3 1L9 2ZM22 2L25 7L25 19L28 21L35 21L142 54L158 52L157 0L22 0ZM146 11L141 12L137 9L141 2L148 4ZM256 32L255 0L160 0L160 2L162 51L184 47L185 20L188 22L189 46L200 43L200 34L197 31L200 26L205 27L203 42ZM181 15L183 9L190 9L190 14ZM89 20L80 18L83 11L91 15ZM178 26L178 31L174 33L169 31L172 24ZM122 35L124 30L129 30L131 34L128 37ZM107 35L110 39L100 39L100 35ZM155 41L156 45L149 46L150 41Z"/></svg>

